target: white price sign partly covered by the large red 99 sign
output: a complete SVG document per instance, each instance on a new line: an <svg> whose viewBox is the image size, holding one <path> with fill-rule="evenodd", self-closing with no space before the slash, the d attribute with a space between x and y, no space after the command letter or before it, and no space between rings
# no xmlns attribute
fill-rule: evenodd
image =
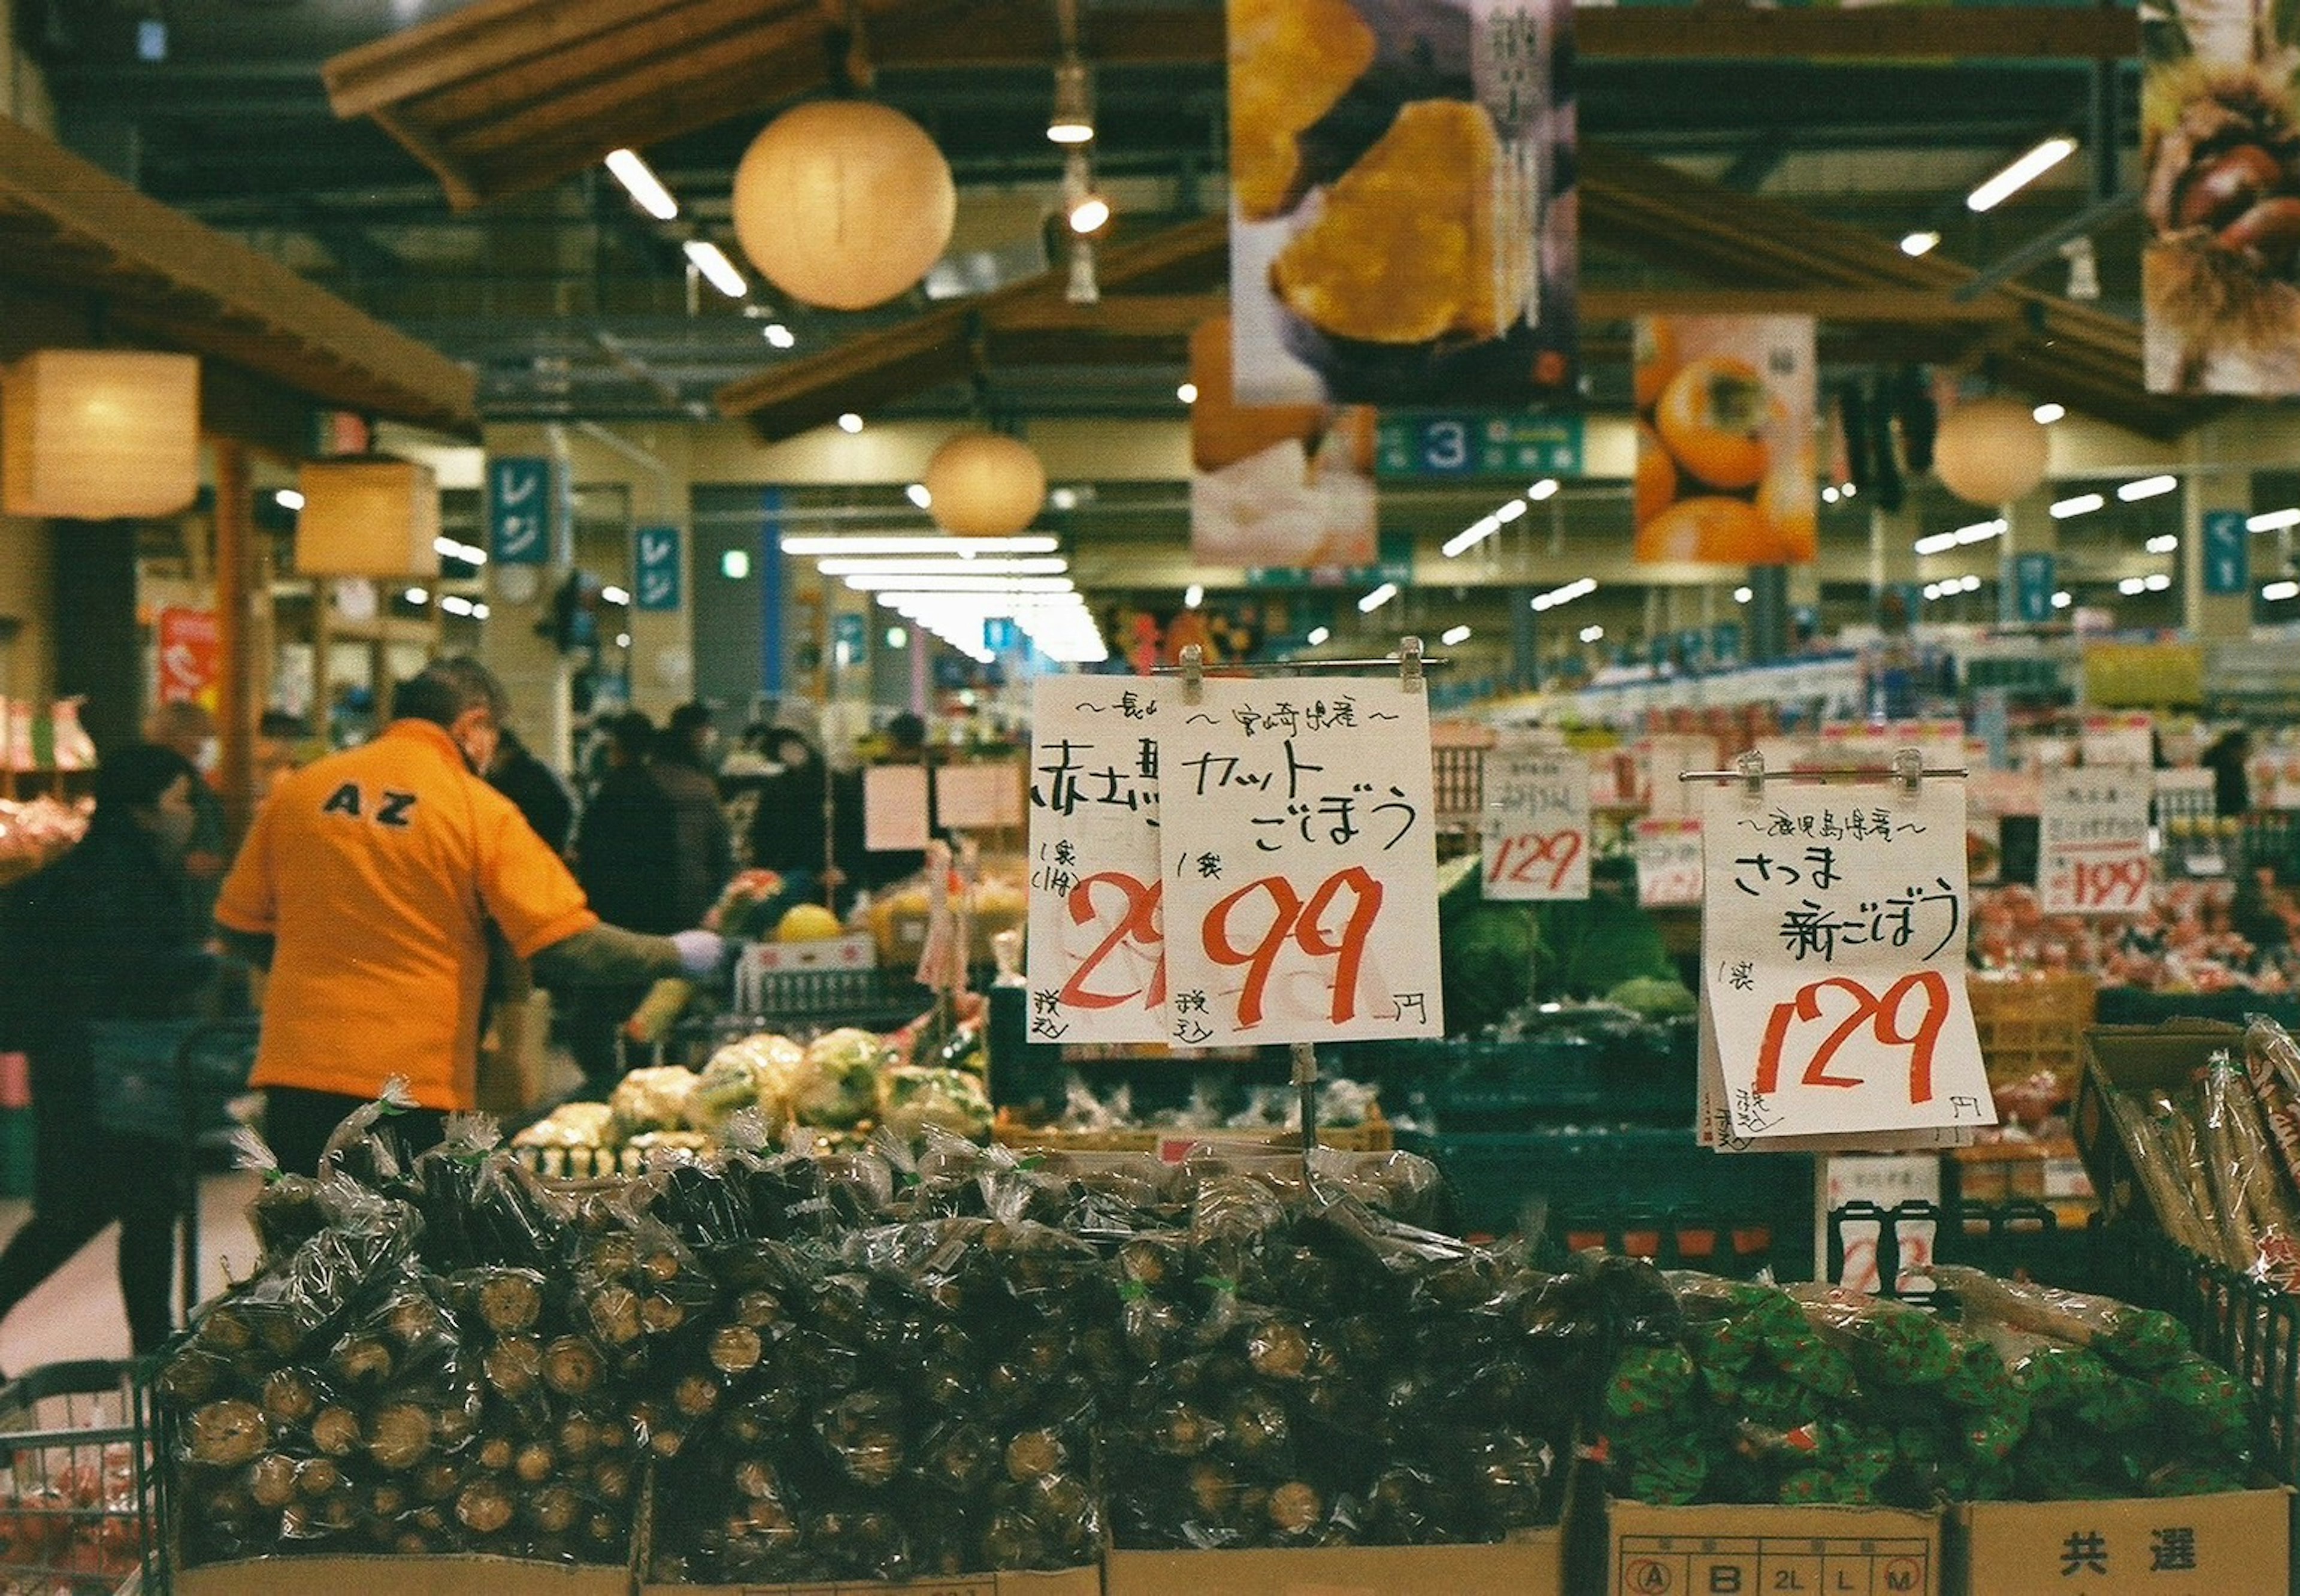
<svg viewBox="0 0 2300 1596"><path fill-rule="evenodd" d="M1157 734L1178 690L1042 676L1030 699L1030 1039L1164 1042Z"/></svg>

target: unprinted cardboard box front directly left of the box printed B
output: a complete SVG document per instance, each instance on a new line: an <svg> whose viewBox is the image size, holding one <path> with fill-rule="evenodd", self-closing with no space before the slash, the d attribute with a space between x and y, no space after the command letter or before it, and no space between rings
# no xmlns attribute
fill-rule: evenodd
<svg viewBox="0 0 2300 1596"><path fill-rule="evenodd" d="M1500 1545L1111 1552L1104 1596L1564 1596L1564 1532Z"/></svg>

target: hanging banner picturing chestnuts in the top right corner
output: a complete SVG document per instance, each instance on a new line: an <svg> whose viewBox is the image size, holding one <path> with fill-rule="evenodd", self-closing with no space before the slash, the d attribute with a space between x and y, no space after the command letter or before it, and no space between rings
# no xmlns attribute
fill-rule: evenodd
<svg viewBox="0 0 2300 1596"><path fill-rule="evenodd" d="M2150 393L2300 393L2300 11L2141 9Z"/></svg>

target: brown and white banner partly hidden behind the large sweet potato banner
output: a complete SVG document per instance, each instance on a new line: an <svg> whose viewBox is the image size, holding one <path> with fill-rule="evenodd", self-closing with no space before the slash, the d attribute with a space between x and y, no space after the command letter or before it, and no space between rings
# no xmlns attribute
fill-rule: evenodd
<svg viewBox="0 0 2300 1596"><path fill-rule="evenodd" d="M1373 412L1240 405L1230 320L1189 338L1189 557L1201 566L1359 568L1375 561Z"/></svg>

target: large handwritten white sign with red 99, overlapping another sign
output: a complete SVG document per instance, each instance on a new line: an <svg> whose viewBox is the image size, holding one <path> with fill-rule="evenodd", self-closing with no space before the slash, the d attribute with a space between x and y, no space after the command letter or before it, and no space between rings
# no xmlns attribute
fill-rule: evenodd
<svg viewBox="0 0 2300 1596"><path fill-rule="evenodd" d="M1428 701L1208 681L1159 715L1168 1039L1442 1037Z"/></svg>

